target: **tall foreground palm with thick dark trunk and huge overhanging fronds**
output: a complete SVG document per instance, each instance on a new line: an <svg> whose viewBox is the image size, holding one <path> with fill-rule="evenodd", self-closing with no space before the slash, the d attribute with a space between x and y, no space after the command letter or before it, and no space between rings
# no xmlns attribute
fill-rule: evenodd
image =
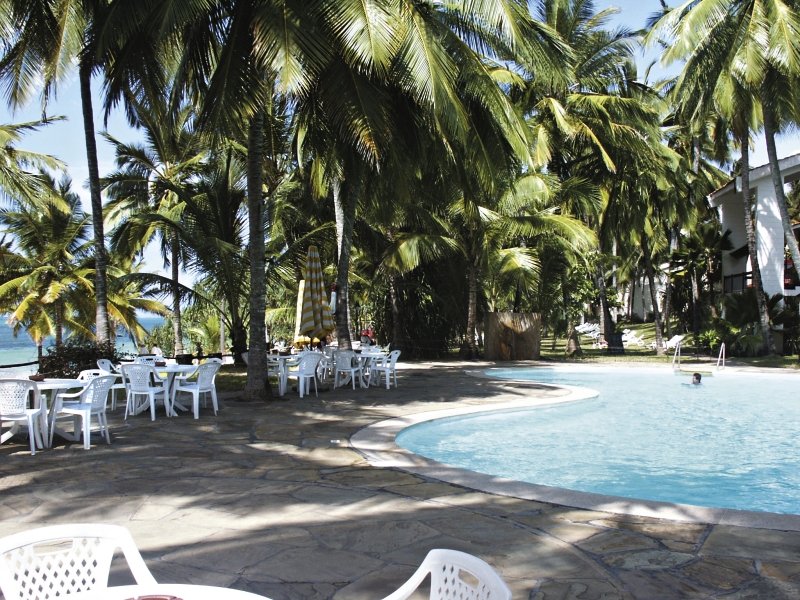
<svg viewBox="0 0 800 600"><path fill-rule="evenodd" d="M155 7L119 3L115 8L124 15L115 20L123 31L141 31L146 23L178 40L171 46L173 55L185 49L177 69L179 80L193 98L203 99L204 123L212 124L215 131L249 131L252 368L246 394L252 397L264 389L261 167L263 158L275 162L278 157L262 153L262 123L269 116L265 107L276 104L272 99L290 98L298 112L311 107L319 117L316 123L327 122L345 153L355 151L361 160L375 165L391 147L386 129L391 120L382 111L392 94L404 95L415 110L427 115L426 129L454 139L471 125L456 93L458 86L469 90L477 104L493 107L498 122L515 120L465 40L480 39L486 47L494 43L506 53L523 52L530 62L550 66L557 61L553 50L560 48L546 27L528 18L520 0L459 1L446 8L410 0L368 4L238 0L166 2ZM159 26L153 27L154 23ZM456 32L463 32L464 38ZM454 77L459 72L469 78L459 82ZM524 153L523 128L506 130L513 131L508 133L510 146ZM358 190L357 182L348 189ZM357 202L348 198L346 205L355 210ZM343 246L349 243L347 239ZM340 269L346 272L347 261L341 263Z"/></svg>

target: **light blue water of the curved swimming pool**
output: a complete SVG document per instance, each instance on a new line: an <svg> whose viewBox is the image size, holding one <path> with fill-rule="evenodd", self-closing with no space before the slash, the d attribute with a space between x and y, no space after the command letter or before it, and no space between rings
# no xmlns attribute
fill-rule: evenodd
<svg viewBox="0 0 800 600"><path fill-rule="evenodd" d="M800 514L800 375L489 369L589 387L589 400L409 427L397 443L452 466L541 485Z"/></svg>

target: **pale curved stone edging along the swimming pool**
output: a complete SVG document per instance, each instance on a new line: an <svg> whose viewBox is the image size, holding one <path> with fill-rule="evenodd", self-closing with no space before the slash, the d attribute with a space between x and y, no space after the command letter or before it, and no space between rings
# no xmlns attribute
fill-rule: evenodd
<svg viewBox="0 0 800 600"><path fill-rule="evenodd" d="M466 370L465 373L475 377L491 379L491 377L482 370ZM527 385L538 388L563 390L565 394L557 398L528 397L493 404L462 404L447 409L421 411L402 417L385 419L372 423L357 431L351 436L350 444L353 449L359 452L372 466L400 469L424 477L430 477L439 481L499 496L510 496L616 515L650 517L685 523L709 523L779 531L800 531L800 515L735 510L729 508L709 508L690 504L607 496L603 494L579 492L566 488L525 483L452 467L414 454L397 445L395 441L397 434L403 429L417 423L478 412L494 412L546 406L563 402L576 402L597 395L597 392L594 390L577 386L555 385L514 379L503 379L502 383L513 387L515 391L519 391L520 386ZM532 386L531 384L535 385Z"/></svg>

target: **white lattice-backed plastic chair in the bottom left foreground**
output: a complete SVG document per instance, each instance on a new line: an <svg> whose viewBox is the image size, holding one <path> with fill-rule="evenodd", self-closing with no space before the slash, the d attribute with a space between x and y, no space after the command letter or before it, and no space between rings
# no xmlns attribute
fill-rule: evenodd
<svg viewBox="0 0 800 600"><path fill-rule="evenodd" d="M156 584L127 529L84 523L0 539L0 589L6 600L49 600L106 588L117 548L137 584Z"/></svg>

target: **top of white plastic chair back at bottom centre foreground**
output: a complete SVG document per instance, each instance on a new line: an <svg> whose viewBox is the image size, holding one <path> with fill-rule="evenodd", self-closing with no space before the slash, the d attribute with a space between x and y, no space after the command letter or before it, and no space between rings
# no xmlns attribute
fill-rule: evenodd
<svg viewBox="0 0 800 600"><path fill-rule="evenodd" d="M441 549L428 552L408 581L383 600L409 598L428 575L430 600L511 600L511 590L486 562L465 552Z"/></svg>

